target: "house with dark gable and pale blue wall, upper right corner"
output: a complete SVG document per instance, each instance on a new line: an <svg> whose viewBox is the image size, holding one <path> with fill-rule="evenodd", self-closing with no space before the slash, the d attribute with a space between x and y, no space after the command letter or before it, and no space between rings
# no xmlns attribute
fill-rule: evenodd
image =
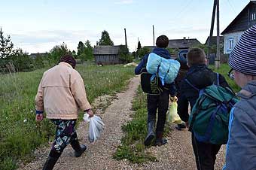
<svg viewBox="0 0 256 170"><path fill-rule="evenodd" d="M250 1L230 25L221 32L221 35L224 36L224 54L231 53L242 33L254 25L256 25L256 1Z"/></svg>

